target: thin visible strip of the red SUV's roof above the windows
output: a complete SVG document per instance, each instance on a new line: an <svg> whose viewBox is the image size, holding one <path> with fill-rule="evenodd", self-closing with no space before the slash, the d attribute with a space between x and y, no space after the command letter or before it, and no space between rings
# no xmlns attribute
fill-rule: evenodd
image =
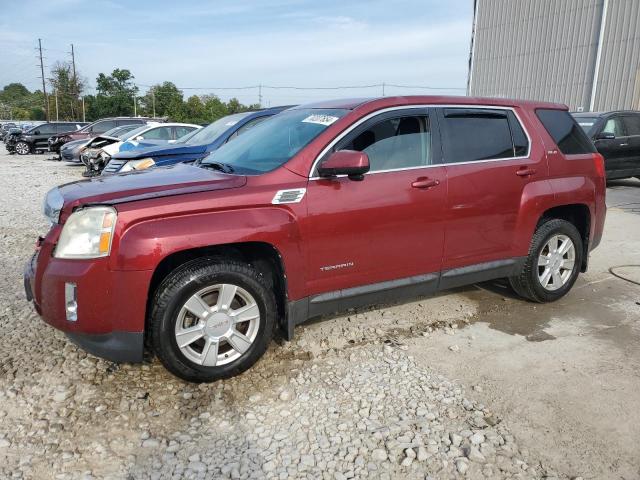
<svg viewBox="0 0 640 480"><path fill-rule="evenodd" d="M567 106L561 103L538 102L532 100L514 100L508 98L482 98L466 96L446 95L410 95L377 98L346 98L328 100L323 102L307 103L296 108L344 108L355 110L367 105L379 108L402 105L488 105L488 106L527 106L530 108L550 108L567 110Z"/></svg>

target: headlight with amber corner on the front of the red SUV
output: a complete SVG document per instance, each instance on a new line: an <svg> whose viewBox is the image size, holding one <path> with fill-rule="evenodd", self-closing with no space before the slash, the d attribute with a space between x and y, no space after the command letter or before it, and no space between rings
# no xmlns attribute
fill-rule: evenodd
<svg viewBox="0 0 640 480"><path fill-rule="evenodd" d="M62 228L56 258L98 258L111 252L117 214L111 207L88 207L71 214Z"/></svg>

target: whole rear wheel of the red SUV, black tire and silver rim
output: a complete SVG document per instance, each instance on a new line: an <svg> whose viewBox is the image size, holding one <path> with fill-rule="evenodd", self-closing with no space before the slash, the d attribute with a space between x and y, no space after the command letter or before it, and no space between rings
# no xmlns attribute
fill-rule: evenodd
<svg viewBox="0 0 640 480"><path fill-rule="evenodd" d="M534 302L553 302L565 296L582 265L582 237L566 220L550 219L536 229L519 275L509 278L513 290Z"/></svg>

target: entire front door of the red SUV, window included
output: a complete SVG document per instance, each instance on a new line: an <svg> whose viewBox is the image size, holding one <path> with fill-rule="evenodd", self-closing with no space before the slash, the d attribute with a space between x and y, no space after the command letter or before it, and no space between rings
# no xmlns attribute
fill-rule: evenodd
<svg viewBox="0 0 640 480"><path fill-rule="evenodd" d="M367 153L371 170L362 181L312 173L303 227L310 294L366 285L375 290L380 282L407 284L429 272L434 275L415 281L433 279L435 287L447 188L429 111L374 116L338 140L321 162L336 150Z"/></svg>

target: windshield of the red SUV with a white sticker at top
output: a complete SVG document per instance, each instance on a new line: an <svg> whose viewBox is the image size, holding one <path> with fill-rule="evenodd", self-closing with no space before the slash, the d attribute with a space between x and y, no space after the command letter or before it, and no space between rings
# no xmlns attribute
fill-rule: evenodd
<svg viewBox="0 0 640 480"><path fill-rule="evenodd" d="M288 162L347 112L316 108L284 111L210 153L202 166L241 175L269 172Z"/></svg>

